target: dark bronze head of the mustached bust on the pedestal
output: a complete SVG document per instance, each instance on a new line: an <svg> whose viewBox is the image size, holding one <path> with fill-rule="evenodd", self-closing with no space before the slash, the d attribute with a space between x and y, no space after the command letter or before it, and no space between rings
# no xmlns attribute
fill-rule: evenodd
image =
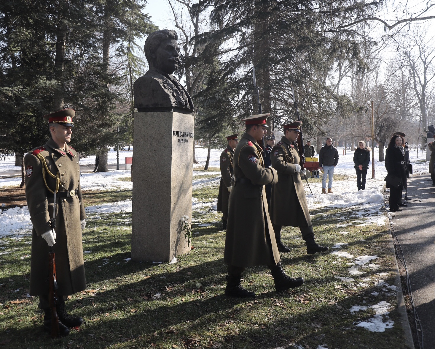
<svg viewBox="0 0 435 349"><path fill-rule="evenodd" d="M145 40L144 51L150 68L171 75L180 64L180 48L175 30L156 30Z"/></svg>

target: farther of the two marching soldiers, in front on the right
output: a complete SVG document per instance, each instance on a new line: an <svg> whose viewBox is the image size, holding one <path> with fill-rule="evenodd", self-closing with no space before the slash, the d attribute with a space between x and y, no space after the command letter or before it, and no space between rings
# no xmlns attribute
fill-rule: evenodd
<svg viewBox="0 0 435 349"><path fill-rule="evenodd" d="M298 145L296 140L301 132L301 121L284 125L284 136L272 149L272 167L278 172L278 183L272 188L270 217L275 232L278 250L289 252L290 249L281 242L283 225L299 227L302 238L307 244L307 253L328 251L328 247L316 244L314 231L305 198L301 173Z"/></svg>

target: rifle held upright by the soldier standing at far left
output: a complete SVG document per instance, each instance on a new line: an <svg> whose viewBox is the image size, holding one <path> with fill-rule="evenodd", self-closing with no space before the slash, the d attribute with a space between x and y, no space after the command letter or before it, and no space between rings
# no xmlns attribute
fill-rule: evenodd
<svg viewBox="0 0 435 349"><path fill-rule="evenodd" d="M53 199L53 218L50 219L51 231L54 233L56 228L56 189L54 189L54 199ZM48 303L51 310L51 337L59 338L59 316L57 315L57 281L56 281L56 259L54 258L54 248L50 247L49 254L49 291L48 291Z"/></svg>

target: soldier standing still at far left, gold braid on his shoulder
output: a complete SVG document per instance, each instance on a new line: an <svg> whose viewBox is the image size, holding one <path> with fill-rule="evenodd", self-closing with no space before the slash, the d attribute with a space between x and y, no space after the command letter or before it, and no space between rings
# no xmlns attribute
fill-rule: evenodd
<svg viewBox="0 0 435 349"><path fill-rule="evenodd" d="M80 189L79 156L74 148L67 145L73 133L74 115L73 109L45 115L51 138L24 158L26 200L33 224L30 295L39 296L38 308L45 312L44 329L50 332L48 256L50 247L54 246L61 335L68 335L69 328L82 324L82 318L67 313L65 301L68 295L86 288L81 232L86 225L86 214ZM57 202L56 230L53 234L50 218L53 215L54 190Z"/></svg>

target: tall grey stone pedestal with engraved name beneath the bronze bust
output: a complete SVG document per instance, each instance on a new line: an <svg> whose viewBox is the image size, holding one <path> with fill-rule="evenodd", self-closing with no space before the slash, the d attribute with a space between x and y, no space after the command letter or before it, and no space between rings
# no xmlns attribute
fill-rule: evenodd
<svg viewBox="0 0 435 349"><path fill-rule="evenodd" d="M131 258L171 261L190 251L181 220L192 222L194 116L134 114Z"/></svg>

